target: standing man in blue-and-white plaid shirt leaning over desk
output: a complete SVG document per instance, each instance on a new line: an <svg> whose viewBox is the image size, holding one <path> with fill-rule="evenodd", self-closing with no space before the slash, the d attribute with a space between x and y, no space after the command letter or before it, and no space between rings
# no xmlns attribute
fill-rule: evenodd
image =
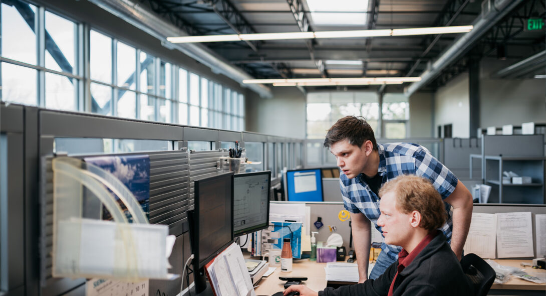
<svg viewBox="0 0 546 296"><path fill-rule="evenodd" d="M441 230L457 258L461 258L470 220L472 195L457 177L430 152L417 144L377 144L371 126L363 117L347 116L330 127L324 147L334 154L340 175L345 208L352 213L352 234L357 258L370 253L370 222L377 225L381 214L378 192L381 186L400 175L429 179L446 206L447 221ZM400 247L383 242L370 278L379 275L396 261ZM357 260L359 282L367 279L367 260Z"/></svg>

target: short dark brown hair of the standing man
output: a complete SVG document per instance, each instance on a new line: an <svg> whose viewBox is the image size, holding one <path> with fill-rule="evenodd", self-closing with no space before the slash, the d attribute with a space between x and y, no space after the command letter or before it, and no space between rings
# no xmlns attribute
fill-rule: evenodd
<svg viewBox="0 0 546 296"><path fill-rule="evenodd" d="M333 144L343 140L348 140L351 145L358 146L358 148L361 148L364 142L370 140L373 144L373 150L377 150L377 142L372 127L361 116L346 116L337 120L326 133L324 147L330 148Z"/></svg>

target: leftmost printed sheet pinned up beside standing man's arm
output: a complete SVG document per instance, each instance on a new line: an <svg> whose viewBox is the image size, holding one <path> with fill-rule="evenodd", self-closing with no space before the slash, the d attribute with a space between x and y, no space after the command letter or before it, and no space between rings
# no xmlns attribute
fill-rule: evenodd
<svg viewBox="0 0 546 296"><path fill-rule="evenodd" d="M472 213L472 222L465 243L465 253L474 253L482 258L495 258L497 216L495 214Z"/></svg>

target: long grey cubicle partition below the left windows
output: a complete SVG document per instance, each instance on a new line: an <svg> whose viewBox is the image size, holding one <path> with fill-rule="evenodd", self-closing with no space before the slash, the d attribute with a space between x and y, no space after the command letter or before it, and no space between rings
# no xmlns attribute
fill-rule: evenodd
<svg viewBox="0 0 546 296"><path fill-rule="evenodd" d="M0 104L0 294L84 295L84 278L51 276L52 171L57 156L135 155L150 159L150 223L165 224L176 235L169 272L182 274L191 255L186 211L193 207L193 181L228 170L221 158L235 142L262 162L257 170L273 165L301 167L295 147L302 140L104 117L96 114L52 111L30 106ZM248 147L248 142L261 143ZM273 150L271 164L267 144ZM192 149L194 148L194 149ZM274 148L274 149L275 149ZM299 149L301 152L301 149ZM252 156L254 157L254 156ZM241 171L256 170L242 165ZM277 175L280 176L280 175ZM280 177L277 177L280 184ZM190 281L193 281L192 278ZM150 280L149 294L176 295L181 279ZM184 287L187 286L185 282Z"/></svg>

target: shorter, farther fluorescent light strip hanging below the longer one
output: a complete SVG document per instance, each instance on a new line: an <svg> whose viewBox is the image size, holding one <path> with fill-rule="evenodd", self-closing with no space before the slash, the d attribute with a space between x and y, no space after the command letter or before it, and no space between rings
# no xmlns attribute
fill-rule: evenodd
<svg viewBox="0 0 546 296"><path fill-rule="evenodd" d="M420 77L354 77L354 78L296 78L296 79L245 79L244 84L275 84L275 83L389 83L418 82Z"/></svg>

